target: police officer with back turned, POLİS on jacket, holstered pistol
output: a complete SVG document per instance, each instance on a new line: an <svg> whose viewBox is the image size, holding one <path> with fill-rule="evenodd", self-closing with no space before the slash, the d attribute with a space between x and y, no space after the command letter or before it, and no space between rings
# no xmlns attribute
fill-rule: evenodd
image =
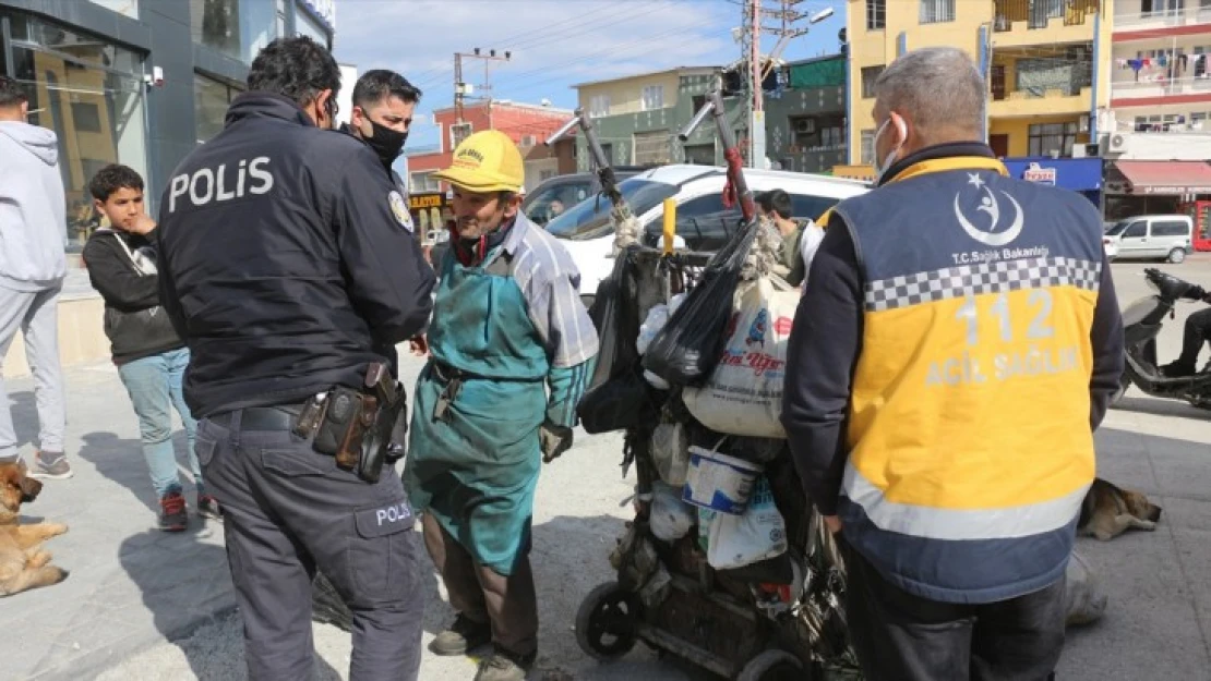
<svg viewBox="0 0 1211 681"><path fill-rule="evenodd" d="M338 467L299 419L362 385L384 360L375 339L423 333L434 288L380 160L323 132L339 88L327 50L270 42L223 132L161 200L161 296L193 353L185 400L223 506L253 680L310 676L317 569L352 612L350 679L415 679L420 663L419 544L400 478Z"/></svg>

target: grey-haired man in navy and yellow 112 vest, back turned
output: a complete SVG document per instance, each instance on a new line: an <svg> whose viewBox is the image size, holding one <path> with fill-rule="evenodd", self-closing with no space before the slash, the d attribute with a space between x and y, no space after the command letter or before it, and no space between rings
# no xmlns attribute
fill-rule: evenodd
<svg viewBox="0 0 1211 681"><path fill-rule="evenodd" d="M866 679L1043 680L1123 371L1101 217L977 142L985 83L959 50L909 52L874 91L878 187L830 217L782 422L844 527Z"/></svg>

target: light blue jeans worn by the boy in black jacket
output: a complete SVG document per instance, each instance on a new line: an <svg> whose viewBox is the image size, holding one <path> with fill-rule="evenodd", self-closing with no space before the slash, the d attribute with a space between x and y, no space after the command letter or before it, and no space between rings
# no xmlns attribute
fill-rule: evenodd
<svg viewBox="0 0 1211 681"><path fill-rule="evenodd" d="M197 421L190 415L180 388L186 365L189 365L189 348L183 347L136 359L117 368L117 374L126 385L126 392L131 394L134 414L139 417L143 456L151 473L151 485L155 486L160 498L168 492L180 491L177 454L172 449L172 406L177 408L180 422L185 426L189 467L194 473L197 492L203 494L202 471L194 451Z"/></svg>

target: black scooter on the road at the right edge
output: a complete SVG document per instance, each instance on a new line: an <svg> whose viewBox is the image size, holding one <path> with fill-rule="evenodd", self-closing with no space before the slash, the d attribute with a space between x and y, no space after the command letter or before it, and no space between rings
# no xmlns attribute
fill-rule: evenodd
<svg viewBox="0 0 1211 681"><path fill-rule="evenodd" d="M1123 312L1126 369L1112 404L1135 383L1153 397L1182 399L1194 406L1211 409L1211 371L1166 377L1157 363L1157 335L1165 316L1175 317L1173 306L1178 300L1204 300L1206 290L1152 267L1144 270L1144 277L1157 293L1132 302Z"/></svg>

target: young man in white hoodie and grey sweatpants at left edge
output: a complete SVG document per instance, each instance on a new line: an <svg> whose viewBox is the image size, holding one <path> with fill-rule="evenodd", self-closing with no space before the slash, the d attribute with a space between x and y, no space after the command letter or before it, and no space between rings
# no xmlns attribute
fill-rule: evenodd
<svg viewBox="0 0 1211 681"><path fill-rule="evenodd" d="M58 138L25 122L29 104L17 81L0 75L0 462L18 456L2 363L17 331L34 373L39 451L30 475L64 479L65 416L59 368L58 301L67 275L67 204Z"/></svg>

